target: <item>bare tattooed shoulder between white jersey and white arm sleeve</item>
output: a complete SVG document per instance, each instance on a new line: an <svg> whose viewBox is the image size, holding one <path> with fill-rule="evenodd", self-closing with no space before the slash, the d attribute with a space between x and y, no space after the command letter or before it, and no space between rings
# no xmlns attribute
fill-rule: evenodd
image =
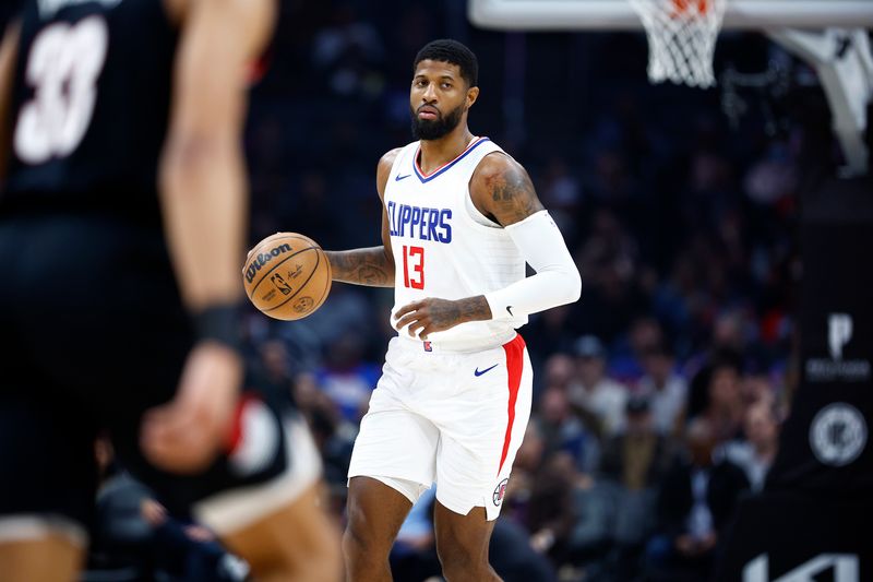
<svg viewBox="0 0 873 582"><path fill-rule="evenodd" d="M486 156L476 168L470 178L470 198L479 212L501 226L543 210L525 168L498 152Z"/></svg>

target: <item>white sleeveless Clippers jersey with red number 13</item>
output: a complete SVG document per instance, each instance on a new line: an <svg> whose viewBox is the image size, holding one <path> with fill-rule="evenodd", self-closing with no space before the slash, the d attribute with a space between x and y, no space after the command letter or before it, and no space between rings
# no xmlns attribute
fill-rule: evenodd
<svg viewBox="0 0 873 582"><path fill-rule="evenodd" d="M396 310L411 301L483 295L525 277L525 260L512 238L483 224L489 221L470 200L473 173L492 152L503 150L476 138L427 176L418 165L419 142L405 146L394 161L384 194L395 265L392 325ZM512 340L515 328L525 323L527 316L470 321L432 333L428 341L446 349L486 348ZM406 331L402 335L408 337Z"/></svg>

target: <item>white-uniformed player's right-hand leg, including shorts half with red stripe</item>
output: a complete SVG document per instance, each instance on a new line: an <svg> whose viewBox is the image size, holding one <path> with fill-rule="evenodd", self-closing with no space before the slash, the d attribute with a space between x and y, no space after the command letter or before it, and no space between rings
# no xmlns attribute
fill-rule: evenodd
<svg viewBox="0 0 873 582"><path fill-rule="evenodd" d="M494 366L494 365L498 366ZM492 371L477 375L475 370ZM458 406L436 411L436 551L449 582L500 580L488 561L515 453L530 415L533 375L521 336L502 347L459 355L443 382Z"/></svg>

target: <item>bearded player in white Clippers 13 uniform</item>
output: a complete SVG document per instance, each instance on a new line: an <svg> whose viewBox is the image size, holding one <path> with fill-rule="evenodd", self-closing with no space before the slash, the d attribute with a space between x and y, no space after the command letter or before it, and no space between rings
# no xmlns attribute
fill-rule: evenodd
<svg viewBox="0 0 873 582"><path fill-rule="evenodd" d="M395 288L398 331L349 467L348 577L391 580L388 553L436 484L446 580L499 580L491 530L530 414L530 360L516 329L575 301L582 282L525 169L467 115L476 56L435 40L415 59L418 141L379 162L383 246L328 252L336 281ZM525 277L525 262L536 274Z"/></svg>

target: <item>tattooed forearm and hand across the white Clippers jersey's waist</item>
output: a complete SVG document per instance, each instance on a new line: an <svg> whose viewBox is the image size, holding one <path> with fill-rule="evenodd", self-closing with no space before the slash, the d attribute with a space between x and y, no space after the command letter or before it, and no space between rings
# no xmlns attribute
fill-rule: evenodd
<svg viewBox="0 0 873 582"><path fill-rule="evenodd" d="M394 313L395 326L406 331L411 337L427 340L433 332L454 328L466 321L478 321L491 317L488 301L481 295L466 299L438 299L428 297L412 301Z"/></svg>

